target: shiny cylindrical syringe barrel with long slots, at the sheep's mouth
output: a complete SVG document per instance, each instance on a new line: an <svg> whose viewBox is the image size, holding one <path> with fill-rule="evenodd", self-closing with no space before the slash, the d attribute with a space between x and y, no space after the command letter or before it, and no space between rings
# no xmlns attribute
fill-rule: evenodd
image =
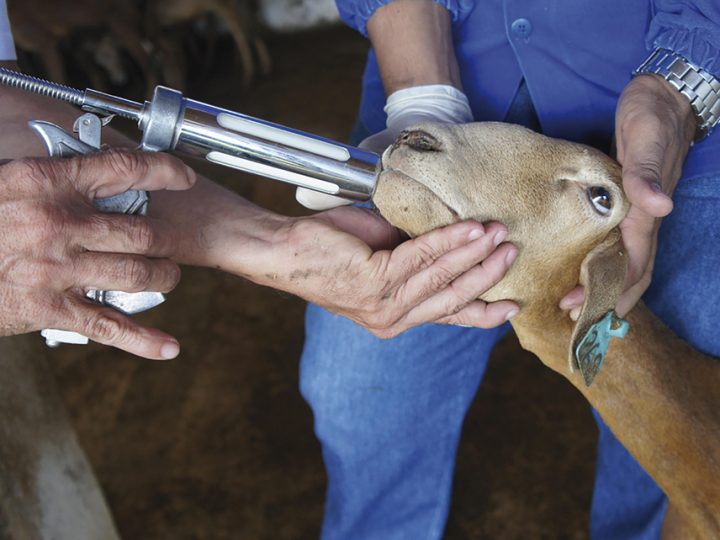
<svg viewBox="0 0 720 540"><path fill-rule="evenodd" d="M184 98L158 86L139 127L146 150L173 150L356 201L370 199L379 157L315 135Z"/></svg>

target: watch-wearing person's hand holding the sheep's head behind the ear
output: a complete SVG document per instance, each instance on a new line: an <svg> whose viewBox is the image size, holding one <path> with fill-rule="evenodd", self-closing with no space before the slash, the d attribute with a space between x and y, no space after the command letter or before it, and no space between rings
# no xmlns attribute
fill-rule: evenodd
<svg viewBox="0 0 720 540"><path fill-rule="evenodd" d="M670 196L682 173L696 120L688 100L656 75L640 75L623 91L615 115L617 159L630 210L620 223L628 254L625 292L616 310L625 316L650 285L660 218L673 208ZM560 307L577 318L580 287Z"/></svg>

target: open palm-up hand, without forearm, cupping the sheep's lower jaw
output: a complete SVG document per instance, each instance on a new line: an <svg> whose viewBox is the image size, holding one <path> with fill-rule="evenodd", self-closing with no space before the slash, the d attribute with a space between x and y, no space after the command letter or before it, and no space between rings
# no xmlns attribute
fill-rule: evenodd
<svg viewBox="0 0 720 540"><path fill-rule="evenodd" d="M478 300L517 256L515 246L502 243L507 230L498 223L465 221L397 245L400 234L385 220L342 207L292 220L278 234L282 240L256 281L344 315L378 337L425 322L489 328L519 309L510 301Z"/></svg>

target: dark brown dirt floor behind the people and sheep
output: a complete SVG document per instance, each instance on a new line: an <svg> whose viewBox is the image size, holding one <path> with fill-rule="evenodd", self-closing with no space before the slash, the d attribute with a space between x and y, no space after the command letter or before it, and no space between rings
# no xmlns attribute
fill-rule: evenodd
<svg viewBox="0 0 720 540"><path fill-rule="evenodd" d="M190 95L345 139L366 43L344 28L268 40L271 75L227 71ZM218 168L214 179L278 212L292 189ZM325 477L297 390L300 300L188 268L143 319L180 339L172 362L96 345L54 351L80 439L127 539L312 539ZM466 421L446 537L586 538L595 427L580 395L513 337L495 351Z"/></svg>

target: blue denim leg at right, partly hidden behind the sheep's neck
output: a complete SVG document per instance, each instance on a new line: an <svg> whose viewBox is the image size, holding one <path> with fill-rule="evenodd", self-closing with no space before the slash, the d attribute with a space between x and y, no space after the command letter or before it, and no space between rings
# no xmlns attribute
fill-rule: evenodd
<svg viewBox="0 0 720 540"><path fill-rule="evenodd" d="M720 176L683 179L663 220L652 285L644 301L697 349L720 356ZM630 359L631 360L631 359ZM660 536L667 497L597 416L597 476L591 512L595 540Z"/></svg>

